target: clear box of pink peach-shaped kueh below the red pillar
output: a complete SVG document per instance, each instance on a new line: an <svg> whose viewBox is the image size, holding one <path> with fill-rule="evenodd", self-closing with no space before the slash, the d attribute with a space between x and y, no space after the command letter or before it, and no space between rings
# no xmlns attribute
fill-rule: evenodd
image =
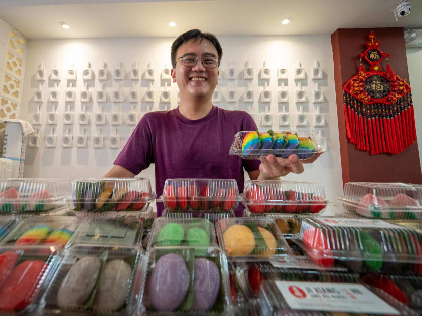
<svg viewBox="0 0 422 316"><path fill-rule="evenodd" d="M382 219L422 219L422 185L349 182L338 198L354 214Z"/></svg>

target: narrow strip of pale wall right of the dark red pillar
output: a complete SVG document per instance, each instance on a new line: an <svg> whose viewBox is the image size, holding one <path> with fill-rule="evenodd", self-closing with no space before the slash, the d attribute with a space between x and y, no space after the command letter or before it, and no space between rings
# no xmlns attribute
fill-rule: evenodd
<svg viewBox="0 0 422 316"><path fill-rule="evenodd" d="M407 48L410 87L412 88L413 108L418 144L422 144L422 49ZM419 145L419 159L422 166L422 147Z"/></svg>

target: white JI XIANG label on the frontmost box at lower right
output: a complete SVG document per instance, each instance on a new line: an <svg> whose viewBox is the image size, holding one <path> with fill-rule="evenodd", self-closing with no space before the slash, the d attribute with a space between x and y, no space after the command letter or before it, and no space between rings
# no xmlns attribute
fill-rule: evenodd
<svg viewBox="0 0 422 316"><path fill-rule="evenodd" d="M276 281L292 309L400 315L360 284Z"/></svg>

